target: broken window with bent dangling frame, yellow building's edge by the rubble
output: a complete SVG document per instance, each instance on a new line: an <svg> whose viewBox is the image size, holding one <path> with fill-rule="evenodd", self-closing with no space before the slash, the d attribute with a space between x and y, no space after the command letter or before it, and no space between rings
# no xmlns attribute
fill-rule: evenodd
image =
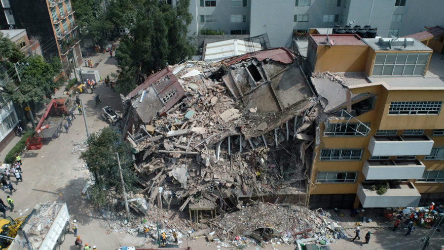
<svg viewBox="0 0 444 250"><path fill-rule="evenodd" d="M324 136L367 136L370 132L368 128L370 124L365 123L364 125L360 123L330 123L325 127Z"/></svg>

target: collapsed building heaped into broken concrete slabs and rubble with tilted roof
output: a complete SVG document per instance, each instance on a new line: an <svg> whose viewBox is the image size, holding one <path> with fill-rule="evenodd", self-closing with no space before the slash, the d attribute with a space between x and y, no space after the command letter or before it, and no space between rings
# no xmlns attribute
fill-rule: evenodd
<svg viewBox="0 0 444 250"><path fill-rule="evenodd" d="M125 97L122 131L148 209L307 204L322 109L295 59L274 48L167 66Z"/></svg>

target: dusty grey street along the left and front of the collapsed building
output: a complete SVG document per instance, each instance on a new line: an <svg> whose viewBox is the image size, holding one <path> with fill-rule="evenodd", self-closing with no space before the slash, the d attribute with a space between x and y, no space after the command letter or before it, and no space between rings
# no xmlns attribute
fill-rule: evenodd
<svg viewBox="0 0 444 250"><path fill-rule="evenodd" d="M111 77L111 72L116 70L116 61L114 57L110 58L109 54L99 54L85 59L93 60L94 70L99 70L103 77L108 74ZM94 97L96 94L99 94L102 100L101 107L95 107ZM63 91L59 90L55 97L64 97ZM90 133L98 132L103 127L109 126L101 116L102 107L111 105L121 115L122 104L119 94L103 83L97 85L94 94L81 94L80 98L83 99ZM99 250L117 249L119 246L144 246L145 238L143 234L133 236L122 230L114 232L99 209L92 207L87 197L82 196L81 191L85 183L90 180L90 175L88 170L82 167L83 161L78 159L80 154L78 144L83 143L87 136L83 116L78 114L77 109L75 109L74 114L76 119L68 133L64 130L59 138L44 142L40 150L25 152L22 156L24 181L15 185L15 178L11 178L11 180L14 180L13 184L17 191L13 192L11 196L14 200L15 210L13 212L7 211L7 216L13 218L26 216L36 204L56 201L59 194L62 194L63 201L68 205L71 221L77 220L78 235L81 237L83 244L95 245ZM16 140L15 138L11 143L15 144L14 141ZM3 157L10 147L11 145L1 152ZM4 191L0 198L5 201L7 195L10 195L8 190ZM133 221L132 223L132 226L129 226L128 229L143 225L141 221ZM137 226L134 226L134 224ZM350 242L350 238L346 238L330 245L330 248L332 250L416 250L420 246L420 239L426 235L431 236L432 233L434 234L429 249L440 249L440 246L444 245L443 232L420 228L413 230L410 236L404 236L406 229L393 232L390 225L384 225L386 228L371 229L373 234L370 244L364 245L364 247L361 247L361 242L364 241L364 235L367 232L365 229L361 232L361 240ZM346 230L344 233L350 237L349 235L353 234L353 230ZM182 247L189 246L194 250L217 249L214 242L207 243L203 237L195 240L182 240ZM70 246L70 250L77 250L74 247L74 234L72 232L67 236L63 248L67 249L68 246ZM151 246L151 243L145 245L147 248ZM155 245L152 247L155 247ZM249 244L247 249L256 250L258 247ZM284 245L274 248L272 244L267 244L265 249L293 250L295 247L294 245Z"/></svg>

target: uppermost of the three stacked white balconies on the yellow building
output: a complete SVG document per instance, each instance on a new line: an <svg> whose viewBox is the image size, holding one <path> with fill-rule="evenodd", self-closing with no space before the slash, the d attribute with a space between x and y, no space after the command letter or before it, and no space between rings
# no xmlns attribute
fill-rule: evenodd
<svg viewBox="0 0 444 250"><path fill-rule="evenodd" d="M427 135L374 135L369 151L372 156L430 155L433 143Z"/></svg>

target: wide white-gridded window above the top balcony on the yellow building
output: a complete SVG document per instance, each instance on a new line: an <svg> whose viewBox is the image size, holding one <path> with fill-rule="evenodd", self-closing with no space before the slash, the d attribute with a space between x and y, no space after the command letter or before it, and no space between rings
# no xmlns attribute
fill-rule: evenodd
<svg viewBox="0 0 444 250"><path fill-rule="evenodd" d="M431 110L424 109L424 106L433 106ZM442 101L422 101L422 102L391 102L388 115L439 115L443 106ZM412 110L407 110L411 109ZM421 112L421 113L418 113Z"/></svg>

